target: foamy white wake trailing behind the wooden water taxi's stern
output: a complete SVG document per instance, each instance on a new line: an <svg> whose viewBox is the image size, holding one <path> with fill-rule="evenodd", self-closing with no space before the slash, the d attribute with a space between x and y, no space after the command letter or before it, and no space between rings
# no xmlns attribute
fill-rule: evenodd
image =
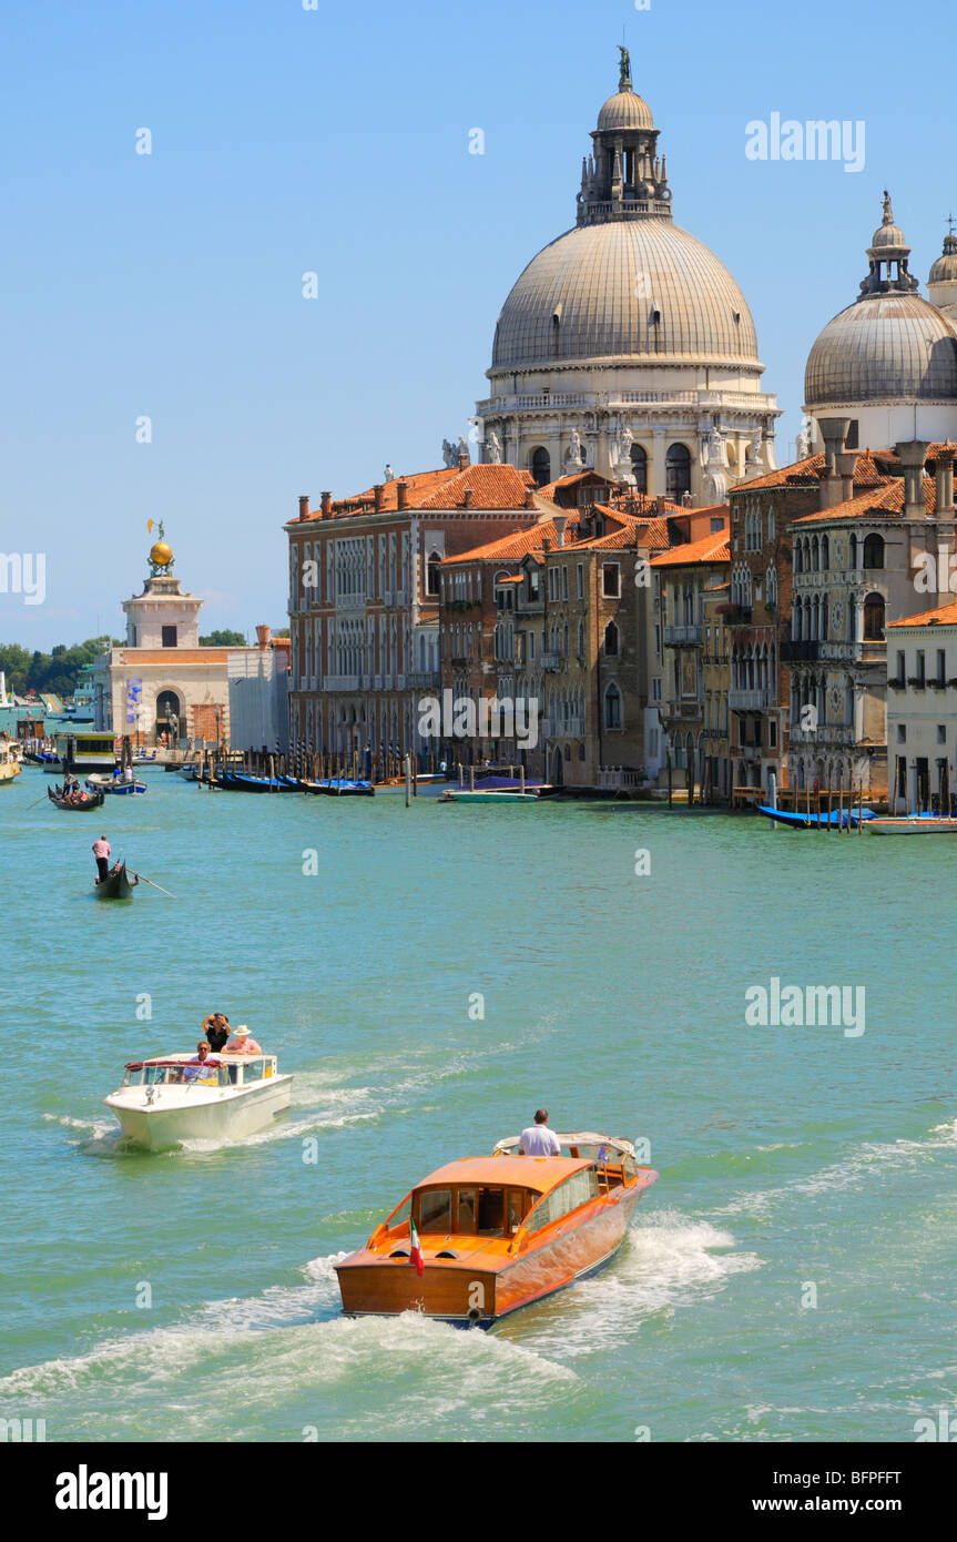
<svg viewBox="0 0 957 1542"><path fill-rule="evenodd" d="M211 1301L180 1321L23 1366L0 1379L0 1411L29 1399L55 1411L59 1439L214 1439L223 1399L242 1409L231 1439L492 1437L501 1409L564 1406L581 1388L567 1366L524 1345L461 1332L415 1312L339 1315L328 1254L297 1284ZM350 1389L350 1412L337 1388ZM211 1396L214 1388L214 1397ZM584 1389L583 1396L584 1396ZM396 1428L399 1426L399 1428Z"/></svg>

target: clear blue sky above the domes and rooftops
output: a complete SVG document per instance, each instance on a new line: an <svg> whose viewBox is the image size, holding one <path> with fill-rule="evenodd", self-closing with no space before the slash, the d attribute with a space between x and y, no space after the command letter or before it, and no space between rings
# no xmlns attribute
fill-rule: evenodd
<svg viewBox="0 0 957 1542"><path fill-rule="evenodd" d="M46 552L48 594L0 594L0 640L117 632L148 518L207 629L284 625L296 497L435 466L465 432L510 285L573 224L623 26L675 219L754 311L787 460L885 185L922 281L940 251L955 133L929 66L951 20L935 0L912 25L861 0L8 11L0 550ZM744 125L774 111L863 119L865 170L747 160Z"/></svg>

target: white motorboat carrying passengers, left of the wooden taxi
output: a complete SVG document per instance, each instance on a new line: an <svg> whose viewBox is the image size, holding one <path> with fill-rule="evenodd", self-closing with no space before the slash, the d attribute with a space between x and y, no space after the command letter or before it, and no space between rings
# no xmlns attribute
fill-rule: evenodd
<svg viewBox="0 0 957 1542"><path fill-rule="evenodd" d="M290 1106L291 1075L274 1055L223 1050L200 1062L196 1055L129 1061L123 1084L103 1103L123 1135L157 1150L188 1140L236 1140L270 1126Z"/></svg>

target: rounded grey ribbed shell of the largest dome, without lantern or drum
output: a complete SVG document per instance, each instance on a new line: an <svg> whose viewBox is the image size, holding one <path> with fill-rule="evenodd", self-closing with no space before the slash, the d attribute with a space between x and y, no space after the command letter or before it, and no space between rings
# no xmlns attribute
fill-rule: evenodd
<svg viewBox="0 0 957 1542"><path fill-rule="evenodd" d="M609 358L758 364L741 290L670 219L569 230L532 259L502 307L493 372Z"/></svg>

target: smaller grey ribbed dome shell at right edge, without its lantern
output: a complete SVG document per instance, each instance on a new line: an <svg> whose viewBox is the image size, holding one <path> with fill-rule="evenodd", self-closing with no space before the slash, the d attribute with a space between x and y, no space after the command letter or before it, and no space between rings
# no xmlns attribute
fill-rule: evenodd
<svg viewBox="0 0 957 1542"><path fill-rule="evenodd" d="M808 356L808 407L957 401L957 332L918 295L872 295L828 322Z"/></svg>

